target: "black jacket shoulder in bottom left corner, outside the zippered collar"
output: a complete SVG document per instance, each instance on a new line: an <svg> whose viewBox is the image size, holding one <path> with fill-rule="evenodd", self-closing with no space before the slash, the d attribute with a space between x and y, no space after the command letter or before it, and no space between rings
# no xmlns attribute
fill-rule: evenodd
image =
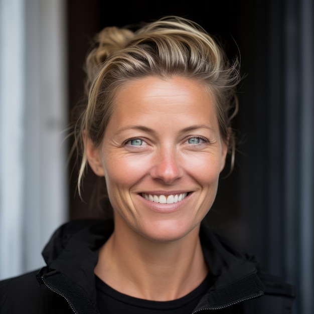
<svg viewBox="0 0 314 314"><path fill-rule="evenodd" d="M53 313L56 309L68 307L63 298L40 285L36 275L39 270L0 281L0 312L15 313ZM51 304L54 304L53 308Z"/></svg>

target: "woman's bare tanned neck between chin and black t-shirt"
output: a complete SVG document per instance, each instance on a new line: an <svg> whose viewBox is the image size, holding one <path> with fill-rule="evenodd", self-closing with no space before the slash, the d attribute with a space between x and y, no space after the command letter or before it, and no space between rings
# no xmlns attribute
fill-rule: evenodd
<svg viewBox="0 0 314 314"><path fill-rule="evenodd" d="M95 267L95 274L115 290L155 301L183 297L207 273L199 227L172 242L151 241L132 229L116 228L99 250Z"/></svg>

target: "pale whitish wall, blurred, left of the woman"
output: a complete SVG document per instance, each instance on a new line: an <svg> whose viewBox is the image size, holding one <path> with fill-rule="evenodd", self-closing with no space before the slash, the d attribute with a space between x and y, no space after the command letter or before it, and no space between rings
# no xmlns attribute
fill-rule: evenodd
<svg viewBox="0 0 314 314"><path fill-rule="evenodd" d="M63 0L0 0L0 279L41 267L68 218Z"/></svg>

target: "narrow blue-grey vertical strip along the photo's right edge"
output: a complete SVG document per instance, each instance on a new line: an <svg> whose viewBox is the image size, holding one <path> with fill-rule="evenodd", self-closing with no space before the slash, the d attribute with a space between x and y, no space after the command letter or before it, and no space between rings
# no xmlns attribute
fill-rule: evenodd
<svg viewBox="0 0 314 314"><path fill-rule="evenodd" d="M314 308L314 6L300 2L300 291L302 313Z"/></svg>

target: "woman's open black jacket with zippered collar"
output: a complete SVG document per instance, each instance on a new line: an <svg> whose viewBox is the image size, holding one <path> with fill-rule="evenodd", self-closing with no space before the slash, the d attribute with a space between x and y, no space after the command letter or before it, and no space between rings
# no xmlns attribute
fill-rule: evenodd
<svg viewBox="0 0 314 314"><path fill-rule="evenodd" d="M99 313L93 271L112 231L103 220L61 226L43 251L46 267L0 282L0 313ZM254 258L203 225L200 238L215 283L194 312L291 313L292 286L261 272Z"/></svg>

